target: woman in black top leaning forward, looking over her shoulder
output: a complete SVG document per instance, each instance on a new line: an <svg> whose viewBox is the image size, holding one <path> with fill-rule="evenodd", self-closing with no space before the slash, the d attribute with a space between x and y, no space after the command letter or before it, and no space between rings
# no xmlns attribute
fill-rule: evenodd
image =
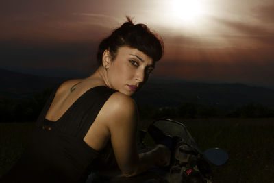
<svg viewBox="0 0 274 183"><path fill-rule="evenodd" d="M138 154L138 112L130 97L145 84L162 53L162 41L127 17L99 45L97 71L53 91L23 156L3 180L84 182L90 171L106 169L112 151L126 177L153 164L168 165L170 151L164 145Z"/></svg>

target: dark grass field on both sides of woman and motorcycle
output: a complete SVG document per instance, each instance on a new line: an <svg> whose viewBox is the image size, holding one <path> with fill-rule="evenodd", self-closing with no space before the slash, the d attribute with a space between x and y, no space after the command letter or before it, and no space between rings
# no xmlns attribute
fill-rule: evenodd
<svg viewBox="0 0 274 183"><path fill-rule="evenodd" d="M213 182L274 182L274 119L175 119L200 149L220 147L228 162L212 167ZM141 121L142 126L151 121ZM23 151L34 123L0 123L0 177Z"/></svg>

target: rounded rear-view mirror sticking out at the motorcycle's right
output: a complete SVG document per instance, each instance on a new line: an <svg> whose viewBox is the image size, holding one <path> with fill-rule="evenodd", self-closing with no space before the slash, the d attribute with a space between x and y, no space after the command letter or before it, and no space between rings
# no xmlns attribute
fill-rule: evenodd
<svg viewBox="0 0 274 183"><path fill-rule="evenodd" d="M221 166L228 160L227 152L219 148L207 149L203 154L216 166Z"/></svg>

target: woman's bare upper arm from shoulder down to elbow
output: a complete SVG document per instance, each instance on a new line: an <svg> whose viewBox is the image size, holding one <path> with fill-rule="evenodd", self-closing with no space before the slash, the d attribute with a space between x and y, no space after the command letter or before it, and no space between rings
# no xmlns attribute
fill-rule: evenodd
<svg viewBox="0 0 274 183"><path fill-rule="evenodd" d="M107 126L115 158L122 173L132 175L138 167L136 104L121 93L114 93L108 102Z"/></svg>

